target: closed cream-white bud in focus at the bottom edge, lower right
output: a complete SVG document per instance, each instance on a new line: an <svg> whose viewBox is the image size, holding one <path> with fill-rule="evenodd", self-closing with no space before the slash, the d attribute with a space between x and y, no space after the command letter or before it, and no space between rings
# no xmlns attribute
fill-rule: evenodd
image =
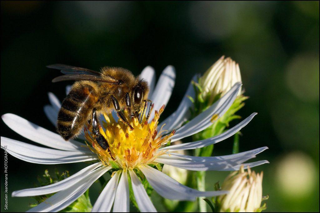
<svg viewBox="0 0 320 213"><path fill-rule="evenodd" d="M244 171L244 166L239 171L228 175L223 181L221 190L229 190L229 194L220 195L220 212L260 212L262 201L263 172Z"/></svg>

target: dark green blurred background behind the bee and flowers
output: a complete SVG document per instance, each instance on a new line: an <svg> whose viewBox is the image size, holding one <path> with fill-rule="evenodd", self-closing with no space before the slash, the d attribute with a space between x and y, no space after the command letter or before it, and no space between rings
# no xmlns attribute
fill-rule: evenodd
<svg viewBox="0 0 320 213"><path fill-rule="evenodd" d="M72 82L52 83L60 72L45 66L64 63L93 70L121 66L135 75L151 65L157 77L173 65L177 79L166 117L192 76L222 55L239 63L250 96L237 114L258 112L241 131L240 151L269 147L256 159L270 164L254 168L264 172L266 211L319 212L319 1L1 1L1 115L14 113L55 131L43 112L47 93L62 101ZM1 136L31 142L4 122ZM231 151L229 139L215 145L214 154ZM44 169L54 171L12 156L8 162L9 194L33 187ZM83 167L58 168L73 174ZM208 189L227 174L210 172ZM3 190L2 171L1 203ZM90 193L94 202L94 189ZM26 211L34 200L9 196L8 202L1 211Z"/></svg>

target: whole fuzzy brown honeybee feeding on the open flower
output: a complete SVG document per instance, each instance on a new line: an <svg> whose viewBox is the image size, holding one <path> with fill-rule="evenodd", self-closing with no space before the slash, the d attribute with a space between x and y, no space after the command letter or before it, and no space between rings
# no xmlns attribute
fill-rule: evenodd
<svg viewBox="0 0 320 213"><path fill-rule="evenodd" d="M123 112L126 108L129 115L137 117L141 113L140 123L147 108L149 94L148 82L140 76L137 78L127 69L121 67L102 67L101 72L93 70L54 64L48 68L58 69L65 75L56 77L52 82L63 80L77 80L71 87L67 97L63 100L58 113L57 132L68 141L78 135L86 122L91 125L92 135L97 143L106 150L108 141L100 134L100 112L116 110L118 117L133 127L125 118ZM147 115L150 114L151 106Z"/></svg>

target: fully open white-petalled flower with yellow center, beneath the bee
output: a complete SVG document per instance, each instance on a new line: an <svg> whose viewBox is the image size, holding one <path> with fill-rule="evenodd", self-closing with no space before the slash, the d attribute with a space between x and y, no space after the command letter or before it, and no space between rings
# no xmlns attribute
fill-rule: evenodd
<svg viewBox="0 0 320 213"><path fill-rule="evenodd" d="M128 175L130 176L132 189L135 196L135 200L140 211L156 211L154 205L150 201L140 179L136 175L135 171L140 170L148 183L154 188L154 190L161 196L174 199L174 200L196 200L196 197L199 196L217 196L221 194L228 193L227 191L198 191L187 186L180 184L174 179L170 178L161 171L158 171L148 164L150 163L162 163L167 165L172 165L178 168L194 170L194 171L207 171L207 170L219 170L219 171L235 171L240 168L240 165L255 157L258 153L267 149L267 147L257 148L251 151L246 151L234 155L228 156L215 156L215 157L194 157L188 155L182 155L174 153L177 150L187 150L205 147L219 141L222 141L236 132L238 132L242 127L247 125L251 119L256 115L253 113L248 118L244 119L238 125L230 128L228 131L202 141L188 142L179 145L167 146L166 144L169 140L177 141L181 138L185 138L189 135L195 134L206 127L212 124L212 118L221 117L231 106L235 100L238 90L241 87L241 83L236 83L222 98L215 102L208 110L199 114L197 117L190 120L184 126L181 126L183 120L187 116L187 109L191 105L191 102L188 98L184 97L180 106L171 116L165 119L166 125L163 126L164 122L157 125L157 120L164 109L164 104L167 104L174 86L175 80L175 71L172 66L167 66L163 73L161 74L158 83L155 85L155 72L153 68L146 67L142 73L141 77L145 78L150 85L150 95L154 103L154 109L159 110L155 113L153 110L150 115L150 122L144 122L141 125L141 129L138 128L138 124L135 124L136 120L131 119L132 124L135 124L137 127L137 132L130 133L130 137L138 138L138 130L141 133L145 134L147 130L150 130L149 133L153 134L152 140L148 138L149 145L133 145L130 140L124 140L119 143L119 146L111 146L111 154L113 154L115 163L119 167L119 170L114 172L112 178L109 180L108 184L105 186L99 198L95 202L92 211L110 211L113 206L113 211L129 211L129 182ZM192 96L192 85L190 84L187 94ZM49 99L51 106L45 107L45 112L48 118L52 121L53 124L56 123L56 118L58 110L60 109L59 100L52 94L49 94ZM189 103L190 102L190 103ZM101 116L103 117L103 116ZM106 119L112 121L112 116L106 117ZM37 163L37 164L65 164L65 163L75 163L75 162L84 162L92 160L100 160L98 163L87 166L81 171L77 172L70 177L57 182L49 186L43 186L38 188L30 188L18 190L12 193L12 196L35 196L42 194L55 193L49 197L45 202L40 203L36 207L30 209L29 211L60 211L74 202L81 194L83 194L94 181L96 181L101 175L110 170L112 167L109 165L107 157L104 157L104 153L99 149L89 149L84 145L84 143L70 140L64 141L59 134L50 132L40 126L37 126L17 115L13 114L4 114L2 116L3 121L8 125L12 130L19 133L20 135L34 141L45 145L50 148L43 148L28 143L12 140L9 138L1 137L1 148L7 146L7 152L12 156L15 156L21 160ZM108 122L108 120L107 120ZM115 125L121 125L122 122L114 123ZM163 127L162 127L163 126ZM166 136L161 137L161 135L156 135L156 131L163 133L163 129L168 130ZM119 139L115 134L112 133L115 127L107 127L107 132L109 131L110 135L108 137L113 137L113 139ZM125 134L127 129L125 125L118 128L118 130L123 131ZM134 131L136 130L134 129ZM173 130L176 130L175 134ZM131 135L132 134L132 135ZM82 134L82 137L86 137L90 143L88 134ZM149 137L150 135L148 135ZM140 139L141 142L142 139ZM147 141L147 139L146 139ZM124 144L122 144L122 142ZM139 142L139 141L138 141ZM122 146L127 146L127 149L130 149L129 157L119 154L120 152L126 151L127 149L121 149ZM138 150L139 149L139 150ZM152 151L152 155L143 153L143 151ZM132 154L132 152L139 152ZM119 153L118 153L119 152ZM141 158L141 155L144 155L145 158ZM110 159L109 159L110 160ZM110 161L111 162L111 161ZM268 163L268 161L258 161L253 163L248 163L250 167L257 166L260 164ZM122 175L121 175L122 174ZM119 177L121 175L120 181Z"/></svg>

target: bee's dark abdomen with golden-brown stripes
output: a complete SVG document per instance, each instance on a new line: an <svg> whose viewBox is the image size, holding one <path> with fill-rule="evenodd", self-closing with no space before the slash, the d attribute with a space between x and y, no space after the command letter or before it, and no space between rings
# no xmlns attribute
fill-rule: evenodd
<svg viewBox="0 0 320 213"><path fill-rule="evenodd" d="M68 141L80 133L90 118L92 109L98 101L98 85L92 81L78 81L72 85L63 100L57 121L57 131Z"/></svg>

